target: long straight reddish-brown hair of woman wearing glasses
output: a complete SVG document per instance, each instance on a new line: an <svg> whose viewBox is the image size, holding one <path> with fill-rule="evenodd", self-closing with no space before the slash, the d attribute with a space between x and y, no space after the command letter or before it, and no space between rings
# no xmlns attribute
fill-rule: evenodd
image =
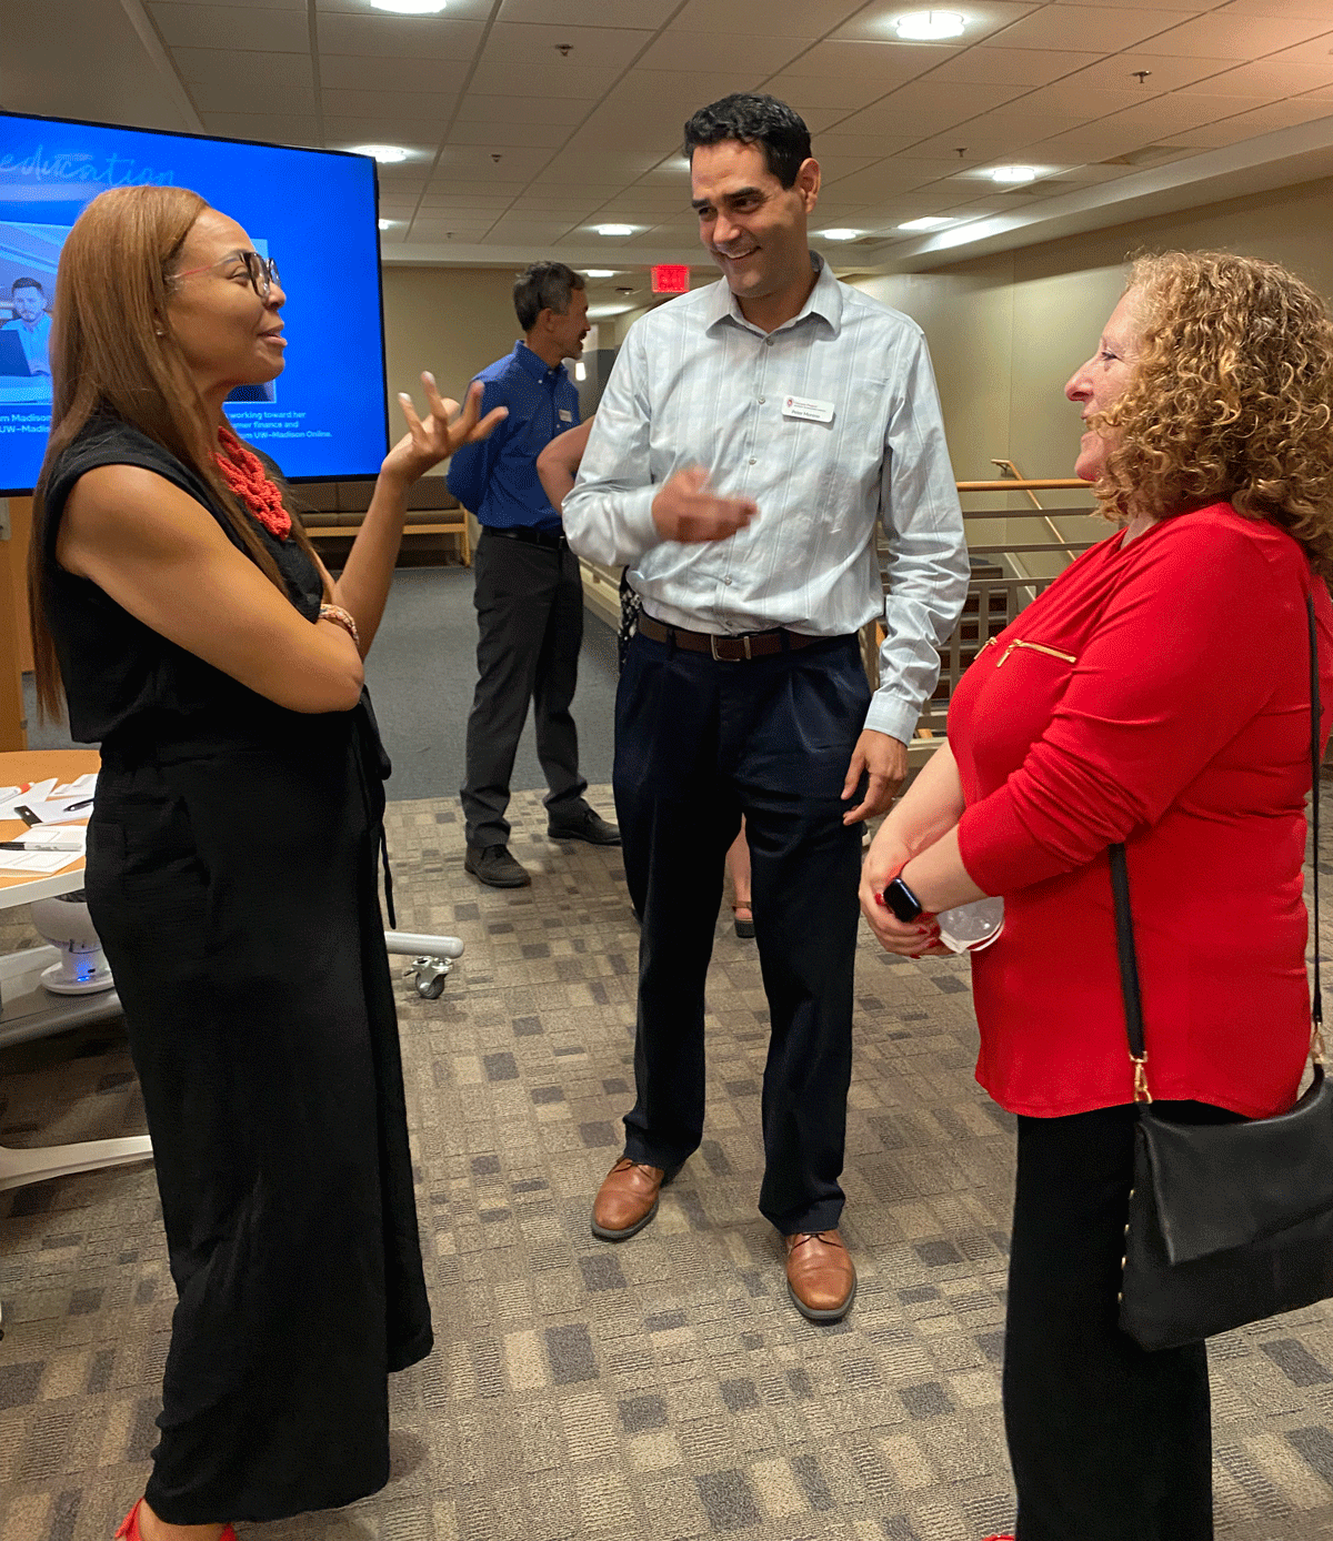
<svg viewBox="0 0 1333 1541"><path fill-rule="evenodd" d="M173 271L208 206L188 188L114 188L83 210L60 253L51 321L51 436L32 496L28 553L32 664L45 720L59 717L63 704L48 613L46 488L55 462L89 419L117 418L190 467L214 495L242 549L287 593L253 519L222 479L203 398L171 333ZM313 555L297 518L291 538Z"/></svg>

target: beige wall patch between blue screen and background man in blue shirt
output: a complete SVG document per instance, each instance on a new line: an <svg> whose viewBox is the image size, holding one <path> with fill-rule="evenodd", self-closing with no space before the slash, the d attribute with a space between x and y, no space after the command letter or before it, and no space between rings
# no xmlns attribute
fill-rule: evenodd
<svg viewBox="0 0 1333 1541"><path fill-rule="evenodd" d="M519 336L509 268L384 268L384 347L388 431L402 431L398 393L421 410L421 371L461 399L467 382L513 348Z"/></svg>

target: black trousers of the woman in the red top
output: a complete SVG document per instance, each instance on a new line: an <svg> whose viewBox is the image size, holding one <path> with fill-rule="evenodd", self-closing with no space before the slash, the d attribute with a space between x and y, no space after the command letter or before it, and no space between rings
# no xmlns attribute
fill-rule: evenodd
<svg viewBox="0 0 1333 1541"><path fill-rule="evenodd" d="M1117 1322L1134 1122L1133 1106L1019 1119L1003 1390L1019 1541L1213 1536L1207 1350L1148 1353Z"/></svg>

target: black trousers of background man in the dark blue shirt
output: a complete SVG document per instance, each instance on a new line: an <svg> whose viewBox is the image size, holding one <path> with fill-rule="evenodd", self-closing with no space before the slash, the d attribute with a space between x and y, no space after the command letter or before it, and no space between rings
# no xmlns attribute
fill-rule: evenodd
<svg viewBox="0 0 1333 1541"><path fill-rule="evenodd" d="M476 542L476 693L467 718L462 812L470 846L509 844L509 783L529 701L553 818L587 807L570 703L583 646L578 558L490 530Z"/></svg>

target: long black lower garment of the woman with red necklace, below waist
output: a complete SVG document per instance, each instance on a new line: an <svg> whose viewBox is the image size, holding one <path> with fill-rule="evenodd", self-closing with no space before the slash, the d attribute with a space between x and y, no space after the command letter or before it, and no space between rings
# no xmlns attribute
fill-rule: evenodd
<svg viewBox="0 0 1333 1541"><path fill-rule="evenodd" d="M264 1521L388 1479L431 1348L364 707L103 749L88 903L143 1086L179 1304L146 1496Z"/></svg>

